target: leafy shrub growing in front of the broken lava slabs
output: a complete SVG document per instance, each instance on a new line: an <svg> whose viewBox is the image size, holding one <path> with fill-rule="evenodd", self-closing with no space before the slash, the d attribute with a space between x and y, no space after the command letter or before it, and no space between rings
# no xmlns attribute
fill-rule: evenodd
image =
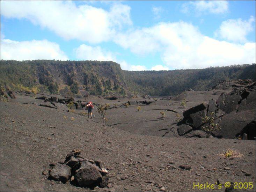
<svg viewBox="0 0 256 192"><path fill-rule="evenodd" d="M205 132L206 138L209 138L213 131L220 131L221 128L218 124L214 123L214 112L210 116L203 117L203 127L202 130Z"/></svg>

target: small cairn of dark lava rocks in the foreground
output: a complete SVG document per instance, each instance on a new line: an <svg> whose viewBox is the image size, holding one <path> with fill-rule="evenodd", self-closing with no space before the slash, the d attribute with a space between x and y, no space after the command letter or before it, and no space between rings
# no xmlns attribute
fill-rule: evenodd
<svg viewBox="0 0 256 192"><path fill-rule="evenodd" d="M50 164L49 179L80 186L108 185L108 170L102 167L101 161L88 160L80 156L81 150L72 150L67 154L64 163Z"/></svg>

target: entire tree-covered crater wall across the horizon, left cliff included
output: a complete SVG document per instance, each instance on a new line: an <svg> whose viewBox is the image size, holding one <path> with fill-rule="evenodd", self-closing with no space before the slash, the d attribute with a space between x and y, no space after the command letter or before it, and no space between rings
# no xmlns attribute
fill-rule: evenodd
<svg viewBox="0 0 256 192"><path fill-rule="evenodd" d="M255 80L255 64L173 71L124 71L112 61L1 60L0 66L1 86L80 96L167 96L208 90L223 80Z"/></svg>

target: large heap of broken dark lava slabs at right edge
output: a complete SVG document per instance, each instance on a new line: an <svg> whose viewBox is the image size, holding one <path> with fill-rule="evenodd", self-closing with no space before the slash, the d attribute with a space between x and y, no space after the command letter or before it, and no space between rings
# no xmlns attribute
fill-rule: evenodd
<svg viewBox="0 0 256 192"><path fill-rule="evenodd" d="M212 136L255 140L255 81L224 81L214 89L231 92L222 93L217 101L212 99L184 111L184 118L178 123L180 136L204 138L202 118L213 112L221 131L213 132Z"/></svg>

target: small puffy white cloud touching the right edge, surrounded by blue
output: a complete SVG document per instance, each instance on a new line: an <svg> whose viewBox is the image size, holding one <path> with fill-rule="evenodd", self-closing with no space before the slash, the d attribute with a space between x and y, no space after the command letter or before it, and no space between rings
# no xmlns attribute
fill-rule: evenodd
<svg viewBox="0 0 256 192"><path fill-rule="evenodd" d="M229 19L223 21L215 36L234 42L246 42L246 35L254 30L255 18L251 16L248 21L242 19Z"/></svg>

